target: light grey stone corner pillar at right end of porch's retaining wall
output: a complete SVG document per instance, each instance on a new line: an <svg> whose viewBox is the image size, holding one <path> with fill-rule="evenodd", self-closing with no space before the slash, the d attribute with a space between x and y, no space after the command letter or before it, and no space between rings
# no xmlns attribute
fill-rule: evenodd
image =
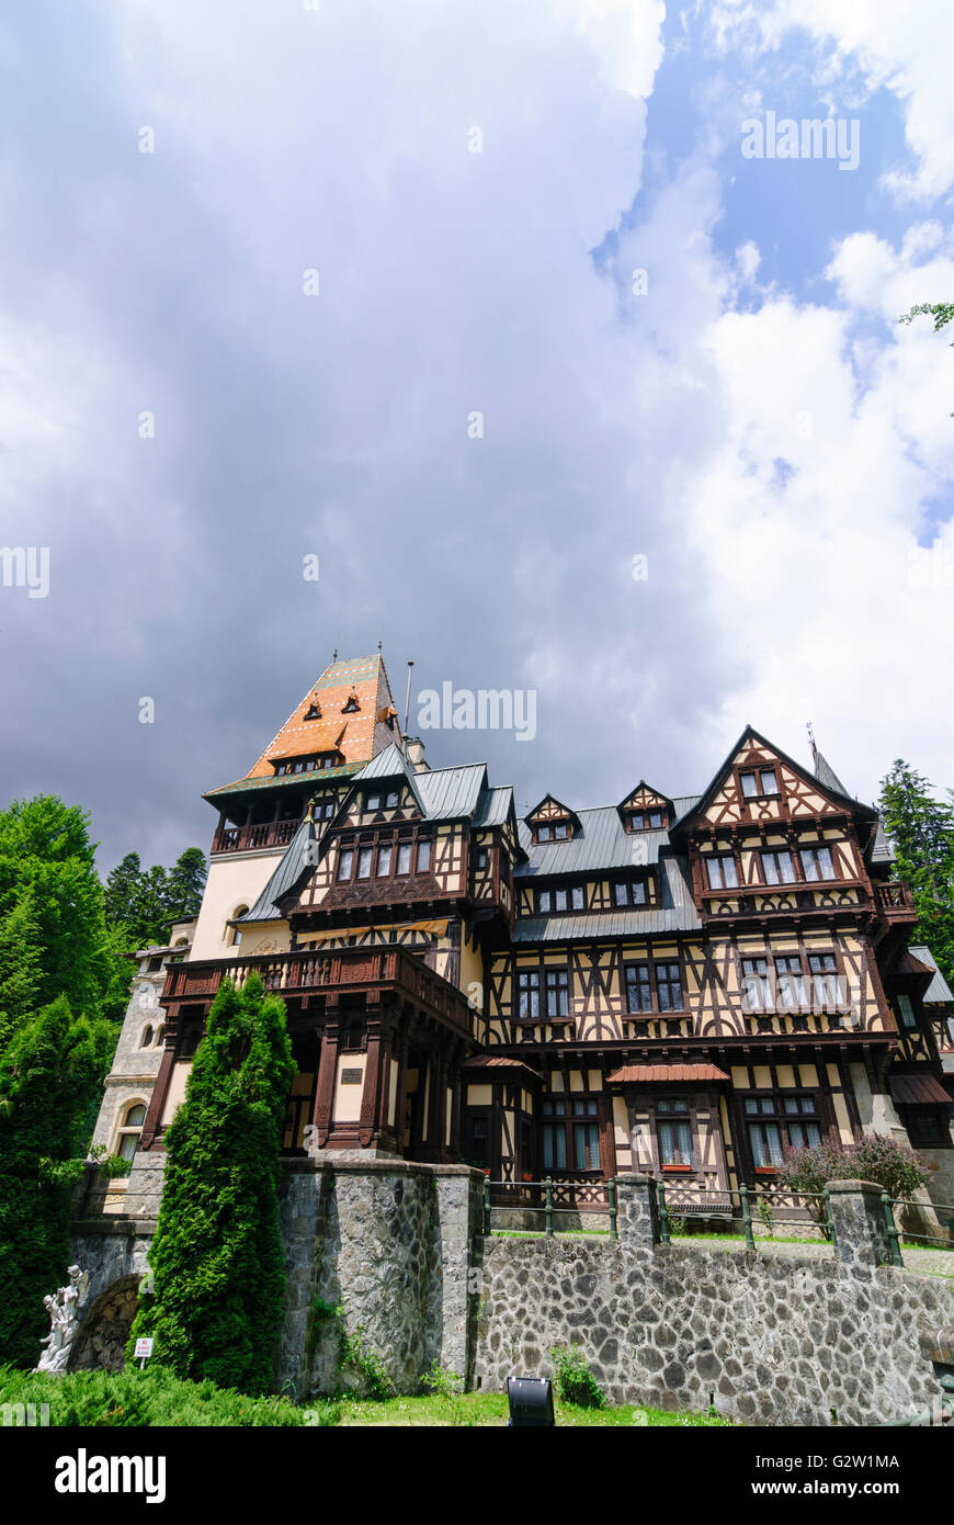
<svg viewBox="0 0 954 1525"><path fill-rule="evenodd" d="M483 1173L471 1165L437 1165L437 1214L428 1289L431 1348L442 1366L469 1382L477 1287L471 1287L474 1252L483 1228ZM475 1279L475 1276L474 1276ZM439 1327L437 1327L439 1321Z"/></svg>

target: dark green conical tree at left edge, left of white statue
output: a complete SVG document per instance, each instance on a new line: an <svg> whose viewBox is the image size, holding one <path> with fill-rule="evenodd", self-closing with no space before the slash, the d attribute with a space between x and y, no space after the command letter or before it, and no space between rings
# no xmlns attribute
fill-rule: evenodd
<svg viewBox="0 0 954 1525"><path fill-rule="evenodd" d="M0 1360L17 1366L37 1363L43 1298L66 1278L72 1183L113 1042L61 996L0 1058Z"/></svg>

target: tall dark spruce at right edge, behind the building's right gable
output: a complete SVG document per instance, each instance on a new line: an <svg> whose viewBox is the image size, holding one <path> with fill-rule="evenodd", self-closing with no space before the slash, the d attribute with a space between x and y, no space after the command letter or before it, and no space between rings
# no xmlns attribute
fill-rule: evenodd
<svg viewBox="0 0 954 1525"><path fill-rule="evenodd" d="M954 982L954 808L902 758L881 781L878 807L898 875L911 888L917 929L948 982Z"/></svg>

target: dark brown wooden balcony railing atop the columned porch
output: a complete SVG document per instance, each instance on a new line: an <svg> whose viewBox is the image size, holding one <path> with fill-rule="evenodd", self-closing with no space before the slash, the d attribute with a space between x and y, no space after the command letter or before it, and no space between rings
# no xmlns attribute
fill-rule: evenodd
<svg viewBox="0 0 954 1525"><path fill-rule="evenodd" d="M369 994L390 991L422 1006L457 1032L480 1042L477 1023L466 997L419 958L401 947L302 949L297 953L264 953L233 959L200 959L169 967L162 994L163 1005L209 1002L222 979L242 985L248 974L261 974L265 990L294 999L297 996Z"/></svg>

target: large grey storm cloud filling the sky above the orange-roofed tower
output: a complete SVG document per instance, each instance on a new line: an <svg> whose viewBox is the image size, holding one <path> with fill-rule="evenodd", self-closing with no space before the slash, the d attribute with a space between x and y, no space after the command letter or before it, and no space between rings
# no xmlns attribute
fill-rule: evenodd
<svg viewBox="0 0 954 1525"><path fill-rule="evenodd" d="M718 197L699 169L640 207L646 105L573 12L8 15L0 538L49 546L50 592L0 593L3 793L90 808L104 866L206 845L200 791L332 648L383 640L401 709L407 657L418 688L533 688L533 744L425 737L521 802L719 761L695 717L739 666L683 534L721 427L692 334Z"/></svg>

